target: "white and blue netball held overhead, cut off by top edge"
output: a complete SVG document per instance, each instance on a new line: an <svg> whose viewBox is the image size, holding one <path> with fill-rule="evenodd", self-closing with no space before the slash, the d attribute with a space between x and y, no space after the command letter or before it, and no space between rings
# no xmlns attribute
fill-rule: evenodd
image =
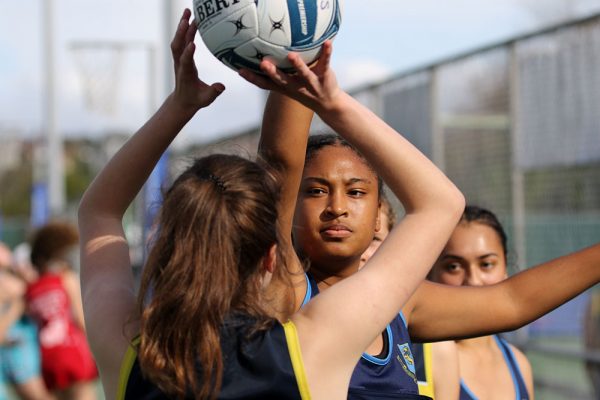
<svg viewBox="0 0 600 400"><path fill-rule="evenodd" d="M290 51L307 64L333 39L342 0L194 0L194 16L206 47L234 70L260 72L267 58L286 72Z"/></svg>

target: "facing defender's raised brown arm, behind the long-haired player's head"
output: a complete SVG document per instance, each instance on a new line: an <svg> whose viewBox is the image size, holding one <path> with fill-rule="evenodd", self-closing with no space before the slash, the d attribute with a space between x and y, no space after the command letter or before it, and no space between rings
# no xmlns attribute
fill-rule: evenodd
<svg viewBox="0 0 600 400"><path fill-rule="evenodd" d="M288 242L286 248L293 249L292 220L298 189L302 180L304 155L313 111L281 93L270 92L263 114L259 157L269 164L281 183L281 198L278 204L278 223L281 239ZM306 293L303 268L294 251L288 254L287 266L292 273L295 294L295 310L300 308ZM274 282L275 283L275 282ZM286 290L286 285L272 284L270 290ZM285 299L278 295L275 298Z"/></svg>

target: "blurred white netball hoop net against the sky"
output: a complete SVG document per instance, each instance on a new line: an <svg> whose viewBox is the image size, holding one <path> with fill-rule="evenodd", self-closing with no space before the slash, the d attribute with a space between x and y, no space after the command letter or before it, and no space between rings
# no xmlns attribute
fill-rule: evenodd
<svg viewBox="0 0 600 400"><path fill-rule="evenodd" d="M118 110L123 50L122 44L108 42L81 42L70 46L88 110L106 116L114 116Z"/></svg>

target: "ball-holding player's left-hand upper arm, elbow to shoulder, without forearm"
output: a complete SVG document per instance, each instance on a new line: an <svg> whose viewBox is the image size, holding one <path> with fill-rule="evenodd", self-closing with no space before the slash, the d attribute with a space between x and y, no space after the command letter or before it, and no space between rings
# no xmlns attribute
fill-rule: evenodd
<svg viewBox="0 0 600 400"><path fill-rule="evenodd" d="M135 325L136 298L121 220L89 215L79 221L81 295L87 336L101 371L118 374Z"/></svg>

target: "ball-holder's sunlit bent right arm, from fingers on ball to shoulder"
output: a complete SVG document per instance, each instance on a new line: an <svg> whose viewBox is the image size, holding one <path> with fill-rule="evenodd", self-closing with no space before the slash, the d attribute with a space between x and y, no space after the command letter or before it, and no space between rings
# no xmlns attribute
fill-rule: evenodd
<svg viewBox="0 0 600 400"><path fill-rule="evenodd" d="M311 392L341 398L363 350L425 278L458 222L464 198L414 146L338 88L330 57L328 42L312 70L292 55L295 76L281 74L268 62L263 71L275 87L314 109L352 143L407 212L360 272L319 294L293 317Z"/></svg>

